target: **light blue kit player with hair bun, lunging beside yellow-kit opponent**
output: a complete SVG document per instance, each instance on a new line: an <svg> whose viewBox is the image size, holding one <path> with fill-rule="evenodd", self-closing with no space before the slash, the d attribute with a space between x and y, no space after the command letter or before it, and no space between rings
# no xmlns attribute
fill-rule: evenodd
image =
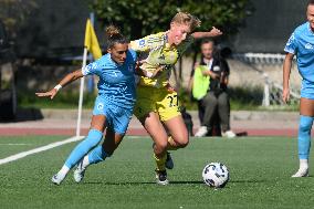
<svg viewBox="0 0 314 209"><path fill-rule="evenodd" d="M60 185L67 173L92 149L94 155L90 155L88 163L109 157L122 142L132 118L136 88L134 75L136 53L128 50L128 41L116 28L108 27L106 32L108 36L106 55L82 70L67 74L51 91L36 93L38 96L53 98L61 87L80 77L92 74L100 77L98 95L88 135L72 150L61 170L52 177L52 182L55 185ZM106 135L102 146L98 144L105 129Z"/></svg>

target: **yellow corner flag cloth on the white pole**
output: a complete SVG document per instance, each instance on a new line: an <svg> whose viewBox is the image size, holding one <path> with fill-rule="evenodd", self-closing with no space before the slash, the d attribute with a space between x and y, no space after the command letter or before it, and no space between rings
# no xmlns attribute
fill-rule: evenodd
<svg viewBox="0 0 314 209"><path fill-rule="evenodd" d="M90 19L87 19L86 22L84 46L87 49L88 52L93 54L95 60L102 56L102 50L100 48L97 36Z"/></svg>

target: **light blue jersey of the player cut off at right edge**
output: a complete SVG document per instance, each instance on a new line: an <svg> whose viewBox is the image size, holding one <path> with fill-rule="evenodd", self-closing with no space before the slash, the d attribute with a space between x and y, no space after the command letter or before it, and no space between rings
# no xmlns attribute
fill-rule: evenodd
<svg viewBox="0 0 314 209"><path fill-rule="evenodd" d="M284 51L296 55L297 69L303 81L314 83L314 33L308 22L294 30Z"/></svg>

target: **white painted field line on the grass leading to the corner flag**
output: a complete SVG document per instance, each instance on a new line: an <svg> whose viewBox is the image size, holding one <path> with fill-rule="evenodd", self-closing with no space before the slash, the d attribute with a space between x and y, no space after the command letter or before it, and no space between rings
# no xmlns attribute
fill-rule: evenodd
<svg viewBox="0 0 314 209"><path fill-rule="evenodd" d="M15 155L11 155L9 157L0 159L0 165L7 164L7 163L10 163L10 161L14 161L17 159L27 157L29 155L33 155L33 154L41 153L41 151L44 151L44 150L48 150L48 149L52 149L52 148L59 147L61 145L65 145L65 144L69 144L69 143L81 140L82 138L84 138L84 136L74 136L74 137L67 138L65 140L51 143L49 145L45 145L45 146L42 146L42 147L38 147L38 148L34 148L34 149L31 149L31 150L28 150L28 151L22 151L22 153L15 154Z"/></svg>

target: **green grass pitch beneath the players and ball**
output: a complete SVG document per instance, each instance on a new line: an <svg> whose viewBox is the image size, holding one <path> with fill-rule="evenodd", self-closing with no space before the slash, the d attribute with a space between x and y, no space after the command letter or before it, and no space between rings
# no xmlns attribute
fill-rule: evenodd
<svg viewBox="0 0 314 209"><path fill-rule="evenodd" d="M1 137L0 158L65 138ZM170 185L159 186L155 184L151 139L126 137L113 157L88 167L83 182L74 182L71 171L61 186L52 185L52 175L75 144L0 165L0 208L314 207L314 178L290 177L297 168L295 138L191 138L187 148L172 151ZM230 181L223 189L202 182L202 168L211 161L229 168Z"/></svg>

